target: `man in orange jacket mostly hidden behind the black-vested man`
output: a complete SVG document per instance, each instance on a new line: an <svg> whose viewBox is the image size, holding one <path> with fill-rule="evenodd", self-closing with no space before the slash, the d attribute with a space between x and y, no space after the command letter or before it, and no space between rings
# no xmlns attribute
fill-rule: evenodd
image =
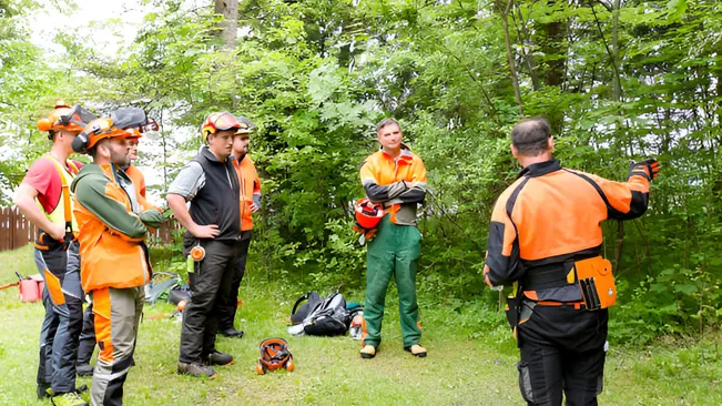
<svg viewBox="0 0 722 406"><path fill-rule="evenodd" d="M218 332L226 337L243 337L243 331L235 329L233 322L237 306L238 287L243 281L243 274L246 270L246 260L248 257L248 245L251 245L251 235L253 230L252 213L261 209L261 179L256 168L248 156L248 143L251 134L256 130L256 125L248 119L240 116L238 129L233 136L233 166L238 175L241 186L241 238L238 241L240 253L237 260L236 273L233 276L231 292L228 297L220 298L223 303L218 304ZM227 302L227 303L226 303Z"/></svg>

